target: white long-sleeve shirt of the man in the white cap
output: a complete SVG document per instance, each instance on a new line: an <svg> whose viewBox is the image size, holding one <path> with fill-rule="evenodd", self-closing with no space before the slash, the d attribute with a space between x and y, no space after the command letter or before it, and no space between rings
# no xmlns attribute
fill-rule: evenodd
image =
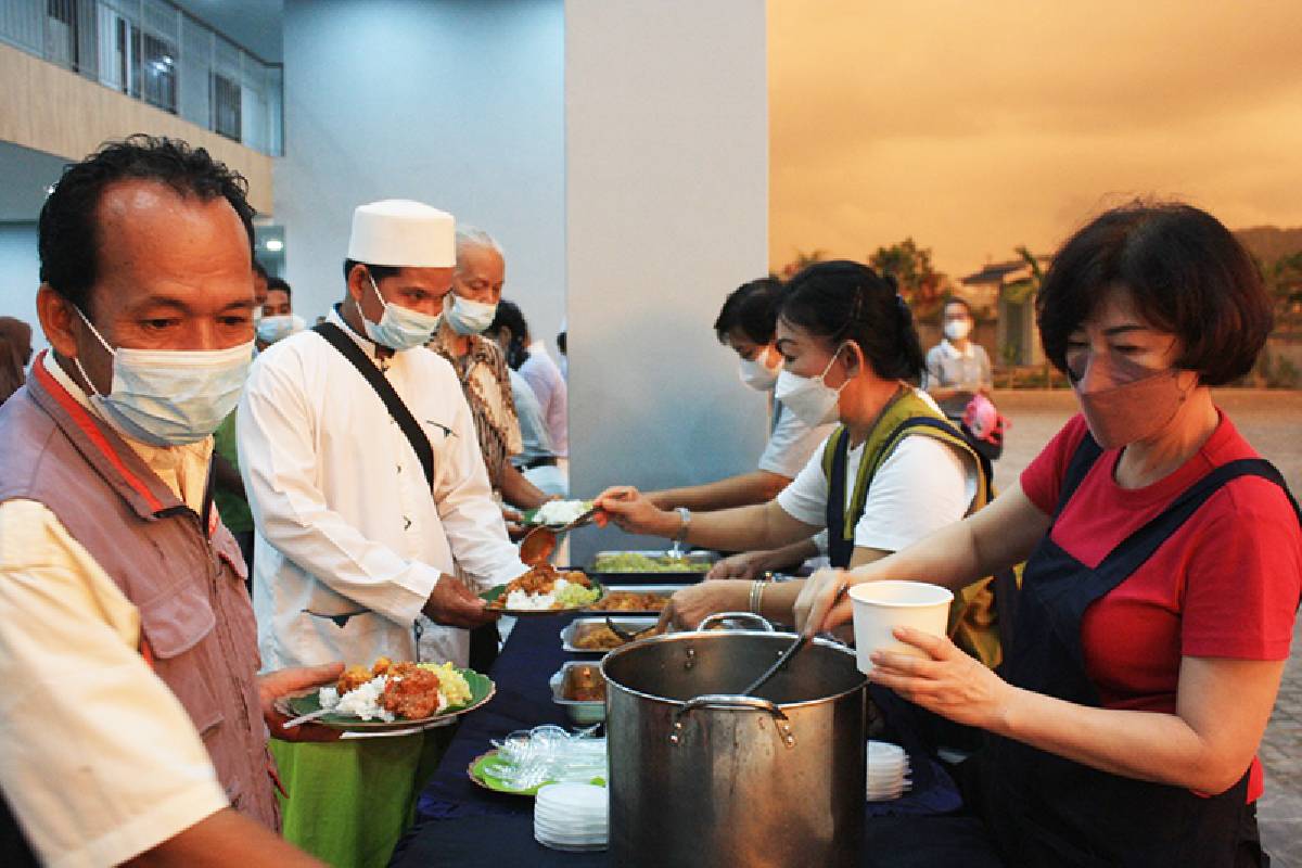
<svg viewBox="0 0 1302 868"><path fill-rule="evenodd" d="M329 321L375 359L375 345L336 311ZM492 500L452 366L417 347L381 368L434 448L432 492L384 402L315 332L279 341L250 371L237 429L267 669L418 651L465 665L466 631L421 614L435 583L457 566L479 587L527 569Z"/></svg>

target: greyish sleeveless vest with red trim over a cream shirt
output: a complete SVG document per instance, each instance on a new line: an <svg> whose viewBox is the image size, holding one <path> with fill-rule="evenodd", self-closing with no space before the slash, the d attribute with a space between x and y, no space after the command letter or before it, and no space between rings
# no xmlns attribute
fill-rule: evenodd
<svg viewBox="0 0 1302 868"><path fill-rule="evenodd" d="M42 359L0 406L0 502L48 508L139 609L141 655L189 713L232 807L279 829L246 569L216 510L204 527Z"/></svg>

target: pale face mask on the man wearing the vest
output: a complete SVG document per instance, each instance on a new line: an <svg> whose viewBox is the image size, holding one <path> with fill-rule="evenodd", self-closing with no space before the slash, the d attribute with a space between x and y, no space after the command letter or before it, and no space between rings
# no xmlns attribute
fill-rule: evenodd
<svg viewBox="0 0 1302 868"><path fill-rule="evenodd" d="M228 350L115 350L81 308L77 312L113 357L108 394L95 392L81 359L73 360L91 388L91 406L125 435L155 446L197 442L216 431L240 402L253 341Z"/></svg>

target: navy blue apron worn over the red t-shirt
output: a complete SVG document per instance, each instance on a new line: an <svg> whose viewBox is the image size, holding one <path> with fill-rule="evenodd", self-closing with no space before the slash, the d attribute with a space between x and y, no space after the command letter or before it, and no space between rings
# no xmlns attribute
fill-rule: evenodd
<svg viewBox="0 0 1302 868"><path fill-rule="evenodd" d="M1055 521L1100 454L1087 435L1072 457ZM1288 493L1268 462L1229 462L1190 485L1092 570L1053 543L1051 528L1026 565L1004 677L1018 687L1099 707L1081 648L1085 610L1125 582L1211 495L1245 475L1263 476ZM1225 793L1202 798L995 735L979 769L982 813L1013 865L1221 868L1236 864L1241 843L1255 832L1255 808L1246 804L1247 769Z"/></svg>

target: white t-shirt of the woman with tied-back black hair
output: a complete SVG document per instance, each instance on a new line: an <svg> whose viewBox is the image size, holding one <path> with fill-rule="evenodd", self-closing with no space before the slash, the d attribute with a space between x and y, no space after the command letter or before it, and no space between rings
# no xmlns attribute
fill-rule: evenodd
<svg viewBox="0 0 1302 868"><path fill-rule="evenodd" d="M859 444L846 454L846 505L854 495L863 446ZM898 552L966 515L976 484L976 462L971 455L926 435L905 437L868 485L863 517L854 527L854 545ZM827 527L827 498L823 446L819 446L777 496L777 505L798 522Z"/></svg>

